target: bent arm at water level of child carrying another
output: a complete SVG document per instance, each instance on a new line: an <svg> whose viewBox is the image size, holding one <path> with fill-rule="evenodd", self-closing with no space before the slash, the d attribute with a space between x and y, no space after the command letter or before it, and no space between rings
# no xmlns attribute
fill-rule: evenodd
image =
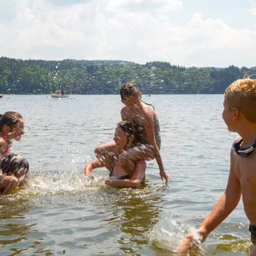
<svg viewBox="0 0 256 256"><path fill-rule="evenodd" d="M145 177L147 164L144 160L139 160L136 163L134 173L132 174L131 179L125 180L105 180L105 183L109 186L117 186L121 188L131 188L138 189L141 186L141 181Z"/></svg>

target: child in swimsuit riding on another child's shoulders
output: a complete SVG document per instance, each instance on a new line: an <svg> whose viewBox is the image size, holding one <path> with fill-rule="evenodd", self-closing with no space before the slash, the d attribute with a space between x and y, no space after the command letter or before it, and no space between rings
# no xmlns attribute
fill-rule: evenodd
<svg viewBox="0 0 256 256"><path fill-rule="evenodd" d="M130 161L157 160L162 180L169 180L164 170L160 155L160 127L157 113L151 107L141 101L141 92L134 83L125 83L120 89L120 95L125 107L121 110L123 121L131 120L143 131L141 144L129 148L118 157L118 164L126 170ZM115 144L103 144L96 147L96 157L104 160L112 157Z"/></svg>

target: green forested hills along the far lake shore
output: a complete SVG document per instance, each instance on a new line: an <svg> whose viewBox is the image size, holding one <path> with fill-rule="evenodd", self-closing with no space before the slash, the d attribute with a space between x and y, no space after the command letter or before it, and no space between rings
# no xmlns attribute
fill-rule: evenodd
<svg viewBox="0 0 256 256"><path fill-rule="evenodd" d="M0 58L0 93L118 94L133 82L144 94L223 93L256 67L185 67L167 62L144 65L120 60L18 60Z"/></svg>

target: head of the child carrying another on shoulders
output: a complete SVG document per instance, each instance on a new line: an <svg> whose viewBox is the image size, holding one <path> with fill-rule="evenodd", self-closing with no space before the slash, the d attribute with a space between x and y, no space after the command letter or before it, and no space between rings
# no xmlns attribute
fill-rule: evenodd
<svg viewBox="0 0 256 256"><path fill-rule="evenodd" d="M143 128L128 120L127 122L118 122L115 128L115 145L118 151L124 151L128 145L134 147L141 143Z"/></svg>

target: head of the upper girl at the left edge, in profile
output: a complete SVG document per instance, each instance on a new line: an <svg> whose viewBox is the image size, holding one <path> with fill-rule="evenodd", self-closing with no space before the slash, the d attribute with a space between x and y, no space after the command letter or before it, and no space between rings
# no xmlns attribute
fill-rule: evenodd
<svg viewBox="0 0 256 256"><path fill-rule="evenodd" d="M10 139L20 140L24 134L24 119L18 112L5 112L0 115L0 132Z"/></svg>

